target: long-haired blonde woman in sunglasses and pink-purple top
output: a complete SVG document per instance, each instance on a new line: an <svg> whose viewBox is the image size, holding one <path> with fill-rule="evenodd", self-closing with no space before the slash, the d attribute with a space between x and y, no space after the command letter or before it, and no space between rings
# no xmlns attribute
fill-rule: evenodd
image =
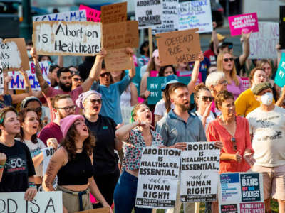
<svg viewBox="0 0 285 213"><path fill-rule="evenodd" d="M227 80L227 91L232 92L234 100L244 92L242 79L237 75L234 56L231 53L220 53L217 57L217 70L224 72Z"/></svg>

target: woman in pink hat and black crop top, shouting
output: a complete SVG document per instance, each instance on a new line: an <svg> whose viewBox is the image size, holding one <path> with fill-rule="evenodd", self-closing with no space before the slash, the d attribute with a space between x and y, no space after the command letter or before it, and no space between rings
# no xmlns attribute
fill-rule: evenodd
<svg viewBox="0 0 285 213"><path fill-rule="evenodd" d="M61 148L58 148L48 163L43 178L44 190L55 191L53 180L57 175L56 190L63 192L63 213L93 209L89 201L89 192L100 201L103 207L110 209L93 178L95 138L86 126L84 117L81 115L66 116L61 119L60 126L63 141Z"/></svg>

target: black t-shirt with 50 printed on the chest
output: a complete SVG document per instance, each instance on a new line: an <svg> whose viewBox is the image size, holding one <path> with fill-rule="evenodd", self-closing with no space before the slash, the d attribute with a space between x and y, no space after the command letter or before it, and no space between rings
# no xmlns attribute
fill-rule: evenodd
<svg viewBox="0 0 285 213"><path fill-rule="evenodd" d="M0 153L7 157L0 192L25 192L28 177L36 175L28 146L16 140L12 147L0 143Z"/></svg>

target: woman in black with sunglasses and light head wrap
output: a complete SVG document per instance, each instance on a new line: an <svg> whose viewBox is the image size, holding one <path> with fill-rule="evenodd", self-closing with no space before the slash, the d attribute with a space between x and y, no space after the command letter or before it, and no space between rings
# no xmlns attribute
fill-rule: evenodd
<svg viewBox="0 0 285 213"><path fill-rule="evenodd" d="M76 100L78 107L83 109L86 126L96 138L93 148L94 179L105 200L111 206L115 185L120 176L118 158L114 150L122 148L122 142L116 140L115 129L117 124L108 116L100 115L102 95L95 90L82 93ZM93 207L102 207L94 204Z"/></svg>

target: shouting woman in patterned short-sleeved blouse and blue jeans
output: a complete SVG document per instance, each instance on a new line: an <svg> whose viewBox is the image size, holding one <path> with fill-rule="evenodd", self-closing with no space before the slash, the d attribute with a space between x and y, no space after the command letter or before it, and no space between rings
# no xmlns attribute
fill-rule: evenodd
<svg viewBox="0 0 285 213"><path fill-rule="evenodd" d="M122 126L115 131L118 140L128 143L124 150L123 173L120 175L114 192L115 212L130 213L135 208L136 213L150 213L152 209L135 207L140 158L143 147L162 146L162 138L159 133L150 129L152 113L147 105L136 104L131 119L132 124Z"/></svg>

